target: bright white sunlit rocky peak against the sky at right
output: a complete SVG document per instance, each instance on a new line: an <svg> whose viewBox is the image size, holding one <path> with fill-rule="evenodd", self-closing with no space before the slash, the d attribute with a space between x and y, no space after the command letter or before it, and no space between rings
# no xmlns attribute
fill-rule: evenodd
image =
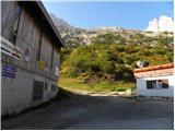
<svg viewBox="0 0 175 131"><path fill-rule="evenodd" d="M160 20L153 19L149 22L147 31L150 32L174 32L174 20L162 15Z"/></svg>

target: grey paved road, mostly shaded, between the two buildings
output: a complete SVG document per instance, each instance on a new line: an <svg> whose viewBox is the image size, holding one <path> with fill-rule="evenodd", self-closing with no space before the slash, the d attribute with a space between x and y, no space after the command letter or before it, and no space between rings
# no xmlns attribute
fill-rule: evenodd
<svg viewBox="0 0 175 131"><path fill-rule="evenodd" d="M2 121L2 129L173 129L173 100L81 96Z"/></svg>

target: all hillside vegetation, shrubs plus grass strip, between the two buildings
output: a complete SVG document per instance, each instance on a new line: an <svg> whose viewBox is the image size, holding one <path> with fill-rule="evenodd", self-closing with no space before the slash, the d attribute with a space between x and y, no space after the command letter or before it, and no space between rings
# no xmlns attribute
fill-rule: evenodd
<svg viewBox="0 0 175 131"><path fill-rule="evenodd" d="M70 45L70 43L68 44ZM112 92L135 88L137 61L149 66L173 62L173 36L162 33L106 33L90 45L65 48L61 52L60 86Z"/></svg>

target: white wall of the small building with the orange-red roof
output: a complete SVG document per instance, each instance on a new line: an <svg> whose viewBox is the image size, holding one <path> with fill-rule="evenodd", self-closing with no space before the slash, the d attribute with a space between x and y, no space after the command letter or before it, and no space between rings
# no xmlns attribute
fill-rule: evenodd
<svg viewBox="0 0 175 131"><path fill-rule="evenodd" d="M147 88L147 81L149 80L168 80L168 88ZM138 96L163 96L173 97L174 96L174 75L167 76L155 76L155 78L141 78L137 79L137 95Z"/></svg>

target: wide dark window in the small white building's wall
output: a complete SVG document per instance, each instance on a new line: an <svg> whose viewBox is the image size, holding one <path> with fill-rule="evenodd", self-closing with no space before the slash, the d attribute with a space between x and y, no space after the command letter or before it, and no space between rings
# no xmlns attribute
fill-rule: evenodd
<svg viewBox="0 0 175 131"><path fill-rule="evenodd" d="M147 88L168 88L168 80L152 80L147 81Z"/></svg>

